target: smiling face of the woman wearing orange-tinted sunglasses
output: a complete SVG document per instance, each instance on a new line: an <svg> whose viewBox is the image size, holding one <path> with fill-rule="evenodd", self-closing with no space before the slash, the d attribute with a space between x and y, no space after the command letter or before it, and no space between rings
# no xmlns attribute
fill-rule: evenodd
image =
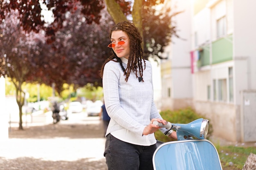
<svg viewBox="0 0 256 170"><path fill-rule="evenodd" d="M125 43L122 45L117 44L119 41L124 41ZM125 57L128 59L130 54L130 40L126 32L121 30L113 31L111 34L111 43L115 44L115 47L112 47L112 49L117 57Z"/></svg>

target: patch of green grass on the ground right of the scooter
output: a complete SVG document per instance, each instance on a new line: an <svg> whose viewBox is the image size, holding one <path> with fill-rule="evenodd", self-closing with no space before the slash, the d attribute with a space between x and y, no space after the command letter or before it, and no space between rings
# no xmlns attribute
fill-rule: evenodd
<svg viewBox="0 0 256 170"><path fill-rule="evenodd" d="M220 156L222 168L232 167L234 170L241 170L250 153L256 154L256 148L219 146L218 153Z"/></svg>

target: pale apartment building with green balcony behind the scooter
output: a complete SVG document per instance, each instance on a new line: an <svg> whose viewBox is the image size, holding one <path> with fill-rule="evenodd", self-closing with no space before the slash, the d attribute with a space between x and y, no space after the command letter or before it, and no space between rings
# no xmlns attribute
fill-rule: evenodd
<svg viewBox="0 0 256 170"><path fill-rule="evenodd" d="M177 30L162 61L162 110L192 107L214 135L256 141L254 0L175 0Z"/></svg>

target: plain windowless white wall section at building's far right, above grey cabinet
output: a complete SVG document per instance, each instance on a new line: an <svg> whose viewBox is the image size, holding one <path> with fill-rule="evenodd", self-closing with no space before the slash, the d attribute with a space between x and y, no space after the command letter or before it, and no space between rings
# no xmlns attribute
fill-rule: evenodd
<svg viewBox="0 0 256 170"><path fill-rule="evenodd" d="M240 91L256 89L256 20L253 19L256 15L255 6L254 0L234 0L236 103L241 101Z"/></svg>

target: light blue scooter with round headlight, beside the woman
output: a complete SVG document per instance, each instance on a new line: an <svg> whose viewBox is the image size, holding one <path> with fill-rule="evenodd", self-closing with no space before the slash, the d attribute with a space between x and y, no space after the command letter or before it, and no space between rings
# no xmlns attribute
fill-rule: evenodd
<svg viewBox="0 0 256 170"><path fill-rule="evenodd" d="M197 119L189 124L163 124L176 130L177 141L161 144L153 155L154 170L222 170L220 157L211 141L205 139L209 120Z"/></svg>

